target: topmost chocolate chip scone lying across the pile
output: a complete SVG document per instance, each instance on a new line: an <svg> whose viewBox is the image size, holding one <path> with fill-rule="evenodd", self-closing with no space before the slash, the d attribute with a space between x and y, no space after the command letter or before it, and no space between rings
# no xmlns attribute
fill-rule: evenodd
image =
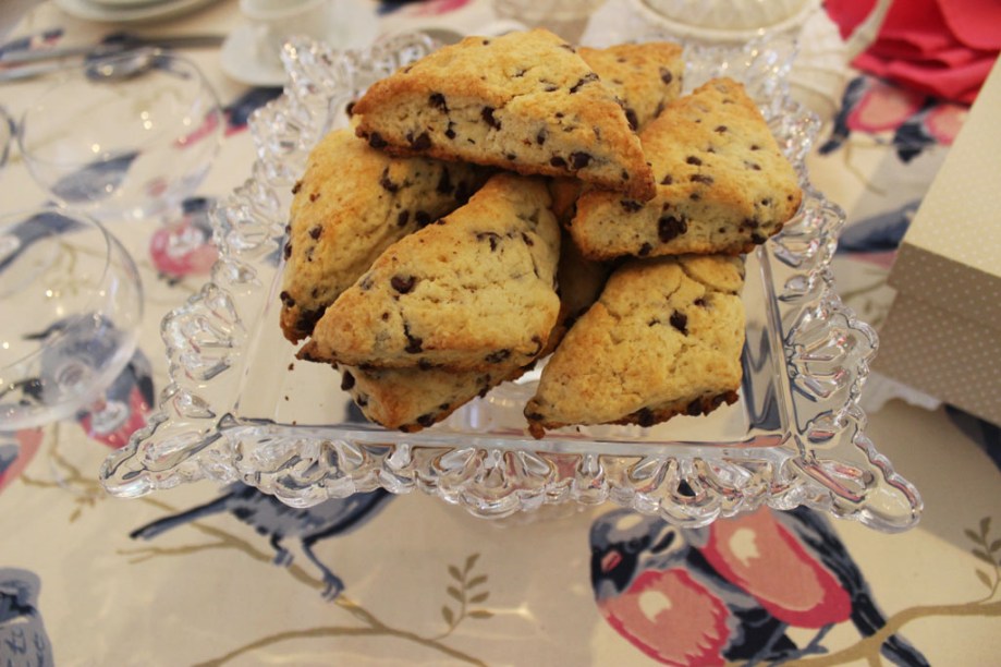
<svg viewBox="0 0 1001 667"><path fill-rule="evenodd" d="M640 201L654 194L614 94L545 29L443 47L373 84L353 112L377 148L576 175Z"/></svg>

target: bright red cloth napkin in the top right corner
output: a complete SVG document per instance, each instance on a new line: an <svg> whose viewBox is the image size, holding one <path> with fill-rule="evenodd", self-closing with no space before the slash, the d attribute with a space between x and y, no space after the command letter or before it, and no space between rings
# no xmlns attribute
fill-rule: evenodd
<svg viewBox="0 0 1001 667"><path fill-rule="evenodd" d="M842 37L875 0L827 0ZM907 88L972 102L1001 51L998 0L895 0L876 41L852 63Z"/></svg>

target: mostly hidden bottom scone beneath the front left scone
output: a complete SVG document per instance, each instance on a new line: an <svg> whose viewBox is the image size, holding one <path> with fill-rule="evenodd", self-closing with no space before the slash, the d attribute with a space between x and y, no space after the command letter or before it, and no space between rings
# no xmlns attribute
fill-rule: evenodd
<svg viewBox="0 0 1001 667"><path fill-rule="evenodd" d="M359 368L341 366L341 388L371 422L406 433L434 426L477 396L524 368L512 363L489 371Z"/></svg>

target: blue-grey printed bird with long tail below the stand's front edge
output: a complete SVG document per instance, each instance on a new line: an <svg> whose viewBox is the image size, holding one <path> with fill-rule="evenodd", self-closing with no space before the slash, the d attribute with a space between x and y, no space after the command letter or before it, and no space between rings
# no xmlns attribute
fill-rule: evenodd
<svg viewBox="0 0 1001 667"><path fill-rule="evenodd" d="M219 498L180 514L154 521L134 530L130 536L134 539L152 539L185 523L211 514L230 513L269 538L274 549L274 565L288 567L292 563L292 553L283 546L283 542L298 539L303 553L320 570L325 584L324 597L333 599L344 590L344 582L316 556L313 547L321 539L359 527L386 507L392 497L392 494L379 488L346 498L333 498L314 507L294 508L253 486L236 483L230 485Z"/></svg>

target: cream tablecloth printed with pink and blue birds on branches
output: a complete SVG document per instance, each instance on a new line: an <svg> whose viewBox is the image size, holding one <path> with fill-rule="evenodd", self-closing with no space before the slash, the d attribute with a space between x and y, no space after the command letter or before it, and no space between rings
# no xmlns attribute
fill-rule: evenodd
<svg viewBox="0 0 1001 667"><path fill-rule="evenodd" d="M359 3L383 32L475 33L493 20L484 0ZM236 4L138 29L228 32L242 21ZM46 2L7 39L86 43L121 27ZM601 29L593 22L587 34ZM227 78L218 50L190 56L227 107L227 138L198 192L210 201L247 178L246 117L280 89ZM878 326L893 250L966 108L849 78L809 168L849 211L840 291ZM38 85L4 84L0 104L16 117ZM44 201L14 150L0 206ZM194 231L206 229L206 201L188 206ZM111 229L146 290L125 383L134 419L106 441L84 435L86 415L0 433L0 665L998 664L999 429L880 378L866 397L868 435L926 505L896 535L805 510L679 531L610 505L488 522L419 493L306 510L208 483L109 498L97 468L166 383L158 323L211 259L210 247L164 253L154 223Z"/></svg>

